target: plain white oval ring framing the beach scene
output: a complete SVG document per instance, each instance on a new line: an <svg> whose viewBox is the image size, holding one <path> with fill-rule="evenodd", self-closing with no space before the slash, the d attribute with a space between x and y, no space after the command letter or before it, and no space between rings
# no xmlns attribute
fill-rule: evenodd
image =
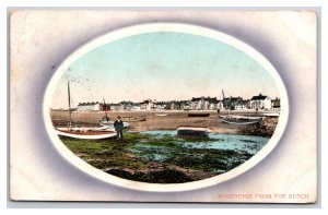
<svg viewBox="0 0 328 215"><path fill-rule="evenodd" d="M143 33L154 33L154 32L178 32L178 33L186 33L186 34L194 34L194 35L201 35L212 39L216 39L223 43L226 43L239 50L243 50L245 53L257 60L274 79L276 84L279 88L280 98L281 98L281 112L279 118L279 123L274 131L274 134L269 140L267 145L258 152L255 156L253 156L249 160L242 164L241 166L215 177L203 179L200 181L195 182L187 182L187 183L177 183L177 184L160 184L160 183L145 183L145 182L137 182L131 180L121 179L112 175L108 175L95 167L89 165L87 163L80 159L75 156L71 151L69 151L59 138L56 135L51 119L49 117L49 108L51 104L51 97L55 92L55 87L62 76L63 72L80 57L87 53L89 51L103 46L105 44L115 41L117 39L121 39L128 36L133 36ZM156 23L156 24L142 24L130 26L121 29L117 29L105 34L98 38L95 38L87 43L86 45L82 46L80 49L74 51L71 56L69 56L62 64L57 69L52 79L50 80L48 87L45 93L44 97L44 120L46 124L46 130L48 135L52 140L54 146L56 150L67 159L69 163L74 165L80 170L95 177L101 181L105 181L110 184L129 188L132 190L140 190L140 191L152 191L152 192L177 192L177 191L189 191L195 189L201 189L214 184L222 183L227 181L232 178L235 178L243 172L247 171L259 162L261 162L269 153L274 148L274 146L279 143L280 138L285 129L286 122L289 117L289 100L285 86L276 71L273 65L257 50L251 48L250 46L246 45L245 43L237 40L236 38L220 33L214 29L197 26L197 25L189 25L189 24L177 24L177 23Z"/></svg>

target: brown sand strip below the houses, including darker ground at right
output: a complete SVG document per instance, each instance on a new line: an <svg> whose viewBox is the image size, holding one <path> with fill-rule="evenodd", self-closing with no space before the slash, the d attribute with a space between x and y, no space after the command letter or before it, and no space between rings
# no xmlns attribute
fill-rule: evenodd
<svg viewBox="0 0 328 215"><path fill-rule="evenodd" d="M188 117L188 114L209 114L209 117ZM227 111L221 111L220 115L226 115ZM230 115L255 115L254 112L230 111ZM99 120L105 116L104 111L94 112L72 112L72 126L98 127ZM180 126L206 127L213 133L223 134L253 134L270 136L274 132L278 118L263 119L257 126L229 124L220 120L216 111L107 111L110 121L115 121L118 116L122 121L129 122L127 131L156 131L156 130L176 130ZM54 126L68 124L68 111L50 111ZM142 119L144 121L131 121L131 119ZM263 130L262 132L259 129ZM265 128L263 128L265 127ZM257 129L258 128L258 129ZM267 129L268 128L268 129Z"/></svg>

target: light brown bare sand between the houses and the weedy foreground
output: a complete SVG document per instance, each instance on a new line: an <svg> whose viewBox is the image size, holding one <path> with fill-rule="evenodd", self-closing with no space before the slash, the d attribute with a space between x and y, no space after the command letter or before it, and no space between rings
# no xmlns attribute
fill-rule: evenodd
<svg viewBox="0 0 328 215"><path fill-rule="evenodd" d="M210 114L209 117L188 117L189 112L194 111L109 111L107 115L110 118L110 121L114 121L118 116L120 116L124 120L128 117L145 117L145 121L129 121L130 127L128 128L128 131L176 130L176 128L179 126L192 126L207 127L215 133L244 133L245 126L223 123L219 119L219 114L216 111L201 111ZM159 116L163 114L168 115ZM225 112L221 112L221 115L224 114ZM80 124L85 126L98 126L98 122L103 116L105 116L104 112L73 112L72 119L73 124L74 122L79 122ZM55 126L67 123L66 121L69 119L68 111L51 111L50 117ZM273 123L276 126L277 121Z"/></svg>

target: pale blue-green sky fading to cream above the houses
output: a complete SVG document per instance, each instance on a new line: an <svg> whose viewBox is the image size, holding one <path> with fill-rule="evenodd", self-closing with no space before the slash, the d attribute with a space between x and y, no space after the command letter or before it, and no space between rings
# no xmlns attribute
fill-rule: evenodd
<svg viewBox="0 0 328 215"><path fill-rule="evenodd" d="M121 100L180 100L199 96L280 97L261 64L243 51L204 36L159 32L105 44L74 61L57 84L52 108Z"/></svg>

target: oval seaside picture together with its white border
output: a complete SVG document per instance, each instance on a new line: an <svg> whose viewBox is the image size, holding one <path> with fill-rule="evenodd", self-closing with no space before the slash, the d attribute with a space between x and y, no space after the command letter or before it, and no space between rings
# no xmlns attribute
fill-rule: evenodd
<svg viewBox="0 0 328 215"><path fill-rule="evenodd" d="M190 46L190 44L192 46ZM68 86L68 82L70 82L70 86ZM234 87L231 87L232 85ZM248 109L247 116L251 114L250 118L237 118L232 120L238 123L241 121L243 122L243 120L251 121L257 119L256 117L259 114L269 114L268 110L273 109L271 101L271 109L267 110L266 106L261 109L260 104L256 105L253 100L253 98L265 97L266 94L262 93L266 92L271 93L273 98L278 97L280 99L279 120L273 133L271 133L268 140L265 140L266 136L262 136L265 135L263 133L253 139L253 135L233 134L233 136L222 134L223 128L234 127L234 124L225 126L226 123L222 122L222 119L216 115L222 117L238 112L239 116L242 112L242 116L245 116L243 111ZM67 94L71 94L70 96L72 96L74 100L71 97L68 99ZM241 101L241 104L233 105L233 98L237 100L238 96L243 97L243 100L247 101L248 99L248 105L246 101L245 104ZM271 97L271 95L268 95L268 97ZM149 105L143 104L144 100L150 98L156 100L153 101L153 104L156 105L155 107L149 107ZM85 110L90 111L85 106L90 105L89 101L94 100L98 101L98 106L102 104L112 104L112 106L109 106L110 110L106 109L107 106L103 106L106 111L85 112ZM211 104L211 100L214 100L214 105ZM74 104L75 101L79 101L80 109L78 109L78 105ZM114 104L119 104L120 101L132 101L132 108L137 109L126 109L125 111L113 109L115 107ZM174 101L179 103L179 106L176 107ZM183 101L186 101L187 105ZM114 121L117 116L121 115L124 120L127 121L131 120L126 118L128 117L127 115L131 115L131 112L138 112L138 115L136 115L139 118L143 117L141 116L141 114L143 114L145 121L128 122L129 127L127 130L138 131L137 134L124 133L125 141L128 145L128 155L131 156L132 154L136 156L133 160L145 160L144 163L149 162L154 165L159 164L159 168L162 170L161 172L151 171L152 175L144 175L144 171L136 172L139 172L139 175L143 174L142 177L147 178L147 180L152 180L156 177L160 177L160 179L155 182L139 181L139 179L133 178L138 175L136 172L112 168L112 170L108 170L110 174L107 174L105 172L106 169L104 170L104 168L101 167L103 164L87 164L84 162L87 160L91 155L85 155L81 153L82 151L79 151L81 146L72 141L74 136L72 139L65 139L69 143L63 143L52 126L61 123L61 127L66 127L67 121L56 121L56 119L54 119L56 115L52 114L57 110L68 116L70 112L67 111L69 109L67 107L68 103L71 105L70 108L77 108L73 114L71 114L71 118L74 116L79 118L79 115L96 115L97 117L108 115L110 120ZM140 109L138 109L138 106L133 106L134 103L140 104ZM166 103L166 106L162 106L161 103L164 105ZM128 105L124 106L124 108L127 108ZM65 108L67 108L66 111L63 110ZM150 110L148 108L150 108ZM168 110L168 108L171 108L171 110ZM52 111L52 118L49 117L49 110ZM183 115L181 112L185 116L185 121L191 121L190 124L178 122L180 115ZM200 112L206 115L207 112L210 114L209 116L197 116ZM279 73L261 53L243 41L218 31L196 25L174 23L130 26L110 32L87 43L69 56L57 69L49 82L44 99L44 119L47 132L56 150L70 164L107 183L134 190L157 192L186 191L214 186L247 171L269 155L279 143L286 126L288 116L289 103L284 84ZM267 115L266 119L270 119L270 115ZM166 120L165 122L167 122L171 118L174 126L199 128L208 126L208 128L211 129L209 140L197 139L195 141L194 136L189 139L189 135L187 135L187 139L177 138L176 131L173 130L172 126L166 124L165 127L163 126L163 128L159 128L161 123L156 123L155 121ZM67 117L65 119L67 119ZM89 127L94 127L94 123L97 123L94 118L87 119L90 120L86 120L87 123L91 124L87 124ZM153 121L154 126L144 126L148 131L140 129L141 126L138 126L138 123L147 124L149 119ZM225 120L227 120L227 118L225 118ZM56 123L54 121L56 121ZM73 122L71 123L73 124ZM133 129L131 129L132 126ZM57 127L59 126L57 124L56 128ZM86 126L83 124L83 127ZM250 126L237 124L235 127L241 130L242 127L249 128ZM159 133L159 131L162 133ZM249 131L246 130L243 134L245 134L245 132L247 133ZM116 135L115 131L113 131L113 133ZM75 134L77 136L80 135L79 133ZM114 134L110 134L110 136ZM164 139L166 142L163 141ZM133 142L133 140L142 140L142 143ZM231 144L234 145L234 148L229 146L224 142L225 140L234 140L233 144ZM102 142L101 144L94 144L90 140L86 140L86 142L93 145L87 152L103 153L104 156L113 156L113 158L116 158L115 156L119 154L118 151L104 147ZM153 145L155 144L156 147L150 145L150 142ZM222 144L222 142L224 143ZM113 140L110 143L118 144L116 140ZM108 142L108 145L110 143ZM259 143L261 143L260 146L258 146ZM159 150L159 144L162 144L161 146L166 144L165 148L168 150ZM174 147L172 148L169 144ZM147 150L144 150L145 145L148 147ZM199 148L196 145L199 145ZM246 147L245 145L248 146ZM191 153L188 155L189 157L183 157L184 159L181 158L183 153L178 154L178 152L188 154L188 152L200 152L207 148L209 151L206 153L210 157L210 162L200 162L200 164L197 164L199 158L189 156ZM226 162L226 157L220 154L223 151L225 154L232 153L229 155L236 156L239 162L231 162L231 168L227 167L229 165L224 166L224 158L225 163L230 160ZM245 153L238 154L236 153L238 151ZM169 157L174 153L179 156ZM211 165L212 160L219 160L219 154L223 157L221 166L219 165L220 168L225 167L227 169L222 170L214 168L218 167L219 163ZM204 157L206 154L200 153L197 155ZM243 159L246 160L242 162ZM165 169L161 164L167 163L167 160L174 160L174 163L171 164L174 166L184 164L185 169L191 170L185 174L177 171L177 168ZM186 166L190 160L192 160L194 164ZM203 162L203 159L200 160ZM112 160L112 165L114 165L113 162L114 160ZM144 164L133 163L129 165L139 168L138 165ZM103 170L99 168L103 168ZM126 169L126 166L124 166L124 169ZM204 171L203 169L210 170ZM196 180L190 181L190 178L194 176L190 171L194 172L194 170L196 172ZM201 178L201 174L199 174L199 176L197 175L197 172L200 171L207 174L204 178ZM190 174L191 177L188 174ZM125 175L126 178L121 177L121 175ZM167 175L174 177L167 177ZM165 177L167 179L165 179ZM200 179L197 179L197 177ZM178 180L172 181L171 178L178 178Z"/></svg>

